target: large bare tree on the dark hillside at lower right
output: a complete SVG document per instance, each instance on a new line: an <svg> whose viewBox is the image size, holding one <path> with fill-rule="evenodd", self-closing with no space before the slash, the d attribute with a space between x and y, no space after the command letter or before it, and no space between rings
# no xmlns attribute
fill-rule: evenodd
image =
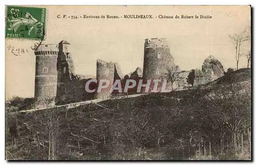
<svg viewBox="0 0 256 165"><path fill-rule="evenodd" d="M214 87L201 97L199 103L202 113L211 116L216 125L222 123L222 131L226 132L225 136L230 137L234 154L239 149L238 135L250 127L251 105L248 91L244 91L240 83L230 83ZM224 136L221 137L222 143L223 140Z"/></svg>

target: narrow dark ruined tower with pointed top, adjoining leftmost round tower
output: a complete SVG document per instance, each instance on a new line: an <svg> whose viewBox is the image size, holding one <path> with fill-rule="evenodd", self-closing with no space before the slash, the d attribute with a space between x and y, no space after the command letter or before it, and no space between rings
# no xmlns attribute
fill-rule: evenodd
<svg viewBox="0 0 256 165"><path fill-rule="evenodd" d="M70 43L62 40L58 44L58 59L57 59L57 73L58 73L58 87L56 103L68 102L75 99L75 89L72 78L75 76L75 67L72 55L69 51Z"/></svg>

